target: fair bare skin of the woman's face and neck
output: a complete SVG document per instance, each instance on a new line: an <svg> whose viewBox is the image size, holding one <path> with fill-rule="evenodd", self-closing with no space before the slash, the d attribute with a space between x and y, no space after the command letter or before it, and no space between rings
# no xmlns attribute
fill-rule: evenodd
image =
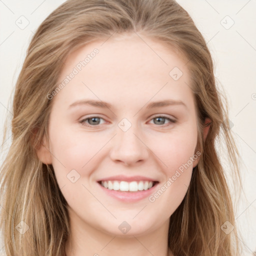
<svg viewBox="0 0 256 256"><path fill-rule="evenodd" d="M148 197L119 201L96 183L123 174L152 177L161 186L197 151L195 102L185 61L160 42L142 38L146 43L135 33L112 36L73 51L59 82L94 48L99 53L51 99L49 140L44 138L37 155L52 164L68 203L67 256L172 255L167 248L169 217L184 198L199 157L154 202ZM183 72L176 81L169 75L175 66ZM82 99L100 99L112 107L69 108ZM181 100L186 106L146 108L163 99ZM162 114L176 122L163 118L157 123L155 117ZM102 119L79 123L93 116ZM118 127L122 118L131 123L127 131ZM80 175L74 183L67 178L72 169ZM131 227L125 234L118 228L124 220Z"/></svg>

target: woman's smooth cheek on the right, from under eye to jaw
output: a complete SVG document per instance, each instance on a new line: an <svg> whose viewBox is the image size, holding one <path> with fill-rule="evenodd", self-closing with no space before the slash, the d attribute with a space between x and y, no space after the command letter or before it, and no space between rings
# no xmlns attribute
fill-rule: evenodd
<svg viewBox="0 0 256 256"><path fill-rule="evenodd" d="M164 134L164 139L159 138L158 142L151 144L151 148L162 166L165 180L149 201L157 201L158 197L161 197L160 200L164 198L166 202L170 202L167 204L168 212L173 212L185 196L191 179L193 161L199 155L195 152L196 127L186 132Z"/></svg>

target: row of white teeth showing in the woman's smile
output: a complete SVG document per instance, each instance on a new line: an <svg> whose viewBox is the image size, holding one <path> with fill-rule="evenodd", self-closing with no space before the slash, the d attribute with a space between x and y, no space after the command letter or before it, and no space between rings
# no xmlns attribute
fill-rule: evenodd
<svg viewBox="0 0 256 256"><path fill-rule="evenodd" d="M147 190L153 186L152 181L101 181L101 185L110 190L120 191L142 191Z"/></svg>

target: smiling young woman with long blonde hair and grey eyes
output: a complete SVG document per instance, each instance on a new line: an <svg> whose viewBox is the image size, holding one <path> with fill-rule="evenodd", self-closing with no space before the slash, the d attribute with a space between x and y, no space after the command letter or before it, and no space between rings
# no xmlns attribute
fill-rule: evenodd
<svg viewBox="0 0 256 256"><path fill-rule="evenodd" d="M239 255L216 151L222 135L239 183L227 120L210 52L175 1L66 1L16 83L6 254Z"/></svg>

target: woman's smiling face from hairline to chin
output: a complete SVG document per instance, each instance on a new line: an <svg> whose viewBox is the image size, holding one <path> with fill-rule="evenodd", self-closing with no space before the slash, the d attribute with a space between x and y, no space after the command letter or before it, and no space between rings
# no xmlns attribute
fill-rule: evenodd
<svg viewBox="0 0 256 256"><path fill-rule="evenodd" d="M68 56L62 86L48 95L49 141L37 152L70 216L115 235L166 227L199 159L185 62L143 38L110 37Z"/></svg>

